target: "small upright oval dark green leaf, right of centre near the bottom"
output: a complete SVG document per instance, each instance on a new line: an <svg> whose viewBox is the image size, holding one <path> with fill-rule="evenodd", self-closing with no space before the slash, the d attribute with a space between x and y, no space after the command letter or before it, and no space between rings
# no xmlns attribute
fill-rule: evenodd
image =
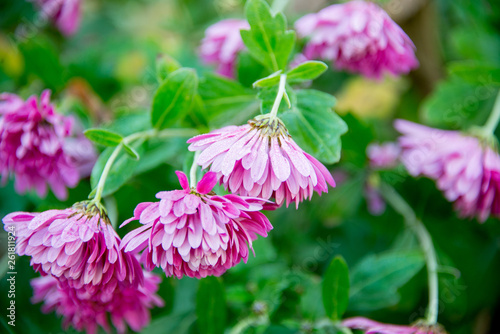
<svg viewBox="0 0 500 334"><path fill-rule="evenodd" d="M349 302L349 269L341 256L335 257L323 277L323 306L332 320L340 320Z"/></svg>

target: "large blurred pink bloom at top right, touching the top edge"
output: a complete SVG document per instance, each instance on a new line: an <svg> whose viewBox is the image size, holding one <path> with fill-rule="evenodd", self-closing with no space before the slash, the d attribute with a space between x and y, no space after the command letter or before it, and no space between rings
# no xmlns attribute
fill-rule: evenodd
<svg viewBox="0 0 500 334"><path fill-rule="evenodd" d="M418 66L408 35L378 5L349 1L308 14L295 23L309 37L309 59L332 60L338 69L380 78L385 72L408 73Z"/></svg>

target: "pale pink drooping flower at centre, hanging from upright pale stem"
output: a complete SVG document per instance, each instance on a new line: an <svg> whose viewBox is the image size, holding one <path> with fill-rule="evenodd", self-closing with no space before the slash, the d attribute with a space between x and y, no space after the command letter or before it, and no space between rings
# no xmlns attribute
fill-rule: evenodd
<svg viewBox="0 0 500 334"><path fill-rule="evenodd" d="M188 140L190 151L202 151L197 163L209 165L232 193L269 199L281 206L306 198L314 191L335 187L332 175L304 152L288 134L283 122L270 115L248 124L228 126Z"/></svg>

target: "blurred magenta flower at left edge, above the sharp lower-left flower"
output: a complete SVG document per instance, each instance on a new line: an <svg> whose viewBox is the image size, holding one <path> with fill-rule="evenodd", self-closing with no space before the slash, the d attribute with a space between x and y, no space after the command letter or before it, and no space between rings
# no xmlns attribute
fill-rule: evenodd
<svg viewBox="0 0 500 334"><path fill-rule="evenodd" d="M36 189L40 197L47 195L47 185L61 200L68 196L81 177L88 176L96 159L92 144L84 137L71 138L73 119L57 114L50 104L50 91L26 102L14 94L0 94L0 175L5 183L15 176L19 193ZM87 147L85 159L75 155L68 140ZM81 172L81 173L80 173Z"/></svg>

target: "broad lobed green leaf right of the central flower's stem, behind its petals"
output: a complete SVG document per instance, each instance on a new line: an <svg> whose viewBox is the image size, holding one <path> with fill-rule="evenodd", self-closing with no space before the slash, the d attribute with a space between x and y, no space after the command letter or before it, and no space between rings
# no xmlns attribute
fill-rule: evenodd
<svg viewBox="0 0 500 334"><path fill-rule="evenodd" d="M340 136L347 132L345 122L333 112L335 98L316 90L297 91L297 103L279 117L297 144L323 163L340 159Z"/></svg>

